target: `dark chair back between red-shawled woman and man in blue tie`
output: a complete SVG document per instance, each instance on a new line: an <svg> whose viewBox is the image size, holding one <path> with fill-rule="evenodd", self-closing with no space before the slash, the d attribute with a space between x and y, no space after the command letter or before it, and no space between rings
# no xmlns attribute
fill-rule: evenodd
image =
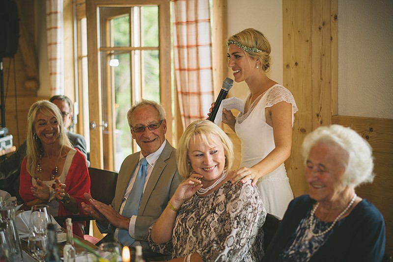
<svg viewBox="0 0 393 262"><path fill-rule="evenodd" d="M91 196L110 205L116 191L117 173L105 169L89 167Z"/></svg>

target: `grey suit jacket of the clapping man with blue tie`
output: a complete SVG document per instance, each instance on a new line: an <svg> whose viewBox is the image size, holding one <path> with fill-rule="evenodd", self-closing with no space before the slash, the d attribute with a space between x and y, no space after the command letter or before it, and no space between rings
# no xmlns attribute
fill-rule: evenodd
<svg viewBox="0 0 393 262"><path fill-rule="evenodd" d="M169 142L154 165L146 188L140 201L137 220L135 222L135 240L139 241L143 249L150 249L147 236L148 228L158 219L182 181L177 172L176 149ZM138 166L140 152L126 157L121 164L117 176L116 193L112 201L113 209L120 210L124 194L135 168ZM111 230L110 230L111 231ZM114 229L112 229L114 231Z"/></svg>

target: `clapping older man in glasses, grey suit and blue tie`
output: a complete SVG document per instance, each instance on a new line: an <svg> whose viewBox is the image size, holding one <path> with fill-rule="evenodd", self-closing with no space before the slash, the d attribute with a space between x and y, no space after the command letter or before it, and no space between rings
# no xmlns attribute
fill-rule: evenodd
<svg viewBox="0 0 393 262"><path fill-rule="evenodd" d="M104 241L115 240L124 245L141 245L145 260L162 261L166 258L154 253L149 247L148 228L161 215L182 181L177 172L176 150L165 139L167 121L161 105L153 101L142 100L131 107L127 113L127 119L132 137L140 146L140 152L124 159L117 177L112 206L96 201L85 193L91 205L82 203L82 207L96 219L100 231L108 233ZM140 164L142 159L147 160L147 172L144 183L139 184L137 173L143 165ZM136 192L134 185L140 188L140 192L143 192L141 198L137 193L133 195ZM127 207L130 207L127 204L129 198L130 202L137 199L139 203L139 209L137 204L137 212L132 215L125 214L130 211L127 210ZM127 235L126 239L124 235Z"/></svg>

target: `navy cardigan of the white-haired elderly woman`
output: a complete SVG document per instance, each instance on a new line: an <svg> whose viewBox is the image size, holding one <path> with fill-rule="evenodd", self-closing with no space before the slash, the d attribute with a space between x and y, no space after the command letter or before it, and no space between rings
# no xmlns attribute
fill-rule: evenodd
<svg viewBox="0 0 393 262"><path fill-rule="evenodd" d="M289 203L276 235L266 250L263 262L277 261L288 238L296 231L315 200L302 195ZM382 214L363 199L345 217L310 262L367 261L378 262L385 253L385 223Z"/></svg>

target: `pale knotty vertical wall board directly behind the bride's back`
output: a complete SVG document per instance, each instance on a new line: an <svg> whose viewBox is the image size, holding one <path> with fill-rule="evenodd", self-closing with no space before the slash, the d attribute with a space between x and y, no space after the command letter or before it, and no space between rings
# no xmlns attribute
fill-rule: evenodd
<svg viewBox="0 0 393 262"><path fill-rule="evenodd" d="M283 84L292 92L299 109L295 114L291 156L285 161L296 197L308 190L299 152L304 136L312 131L312 0L305 0L302 5L283 0L282 10Z"/></svg>

